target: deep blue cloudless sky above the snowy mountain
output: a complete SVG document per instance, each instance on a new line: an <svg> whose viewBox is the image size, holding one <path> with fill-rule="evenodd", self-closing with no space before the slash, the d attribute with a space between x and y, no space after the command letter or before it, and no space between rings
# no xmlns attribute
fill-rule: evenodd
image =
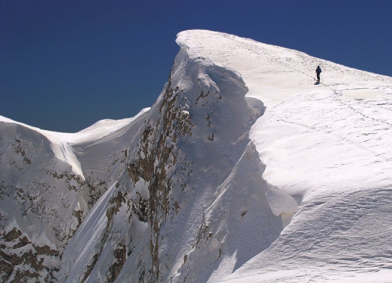
<svg viewBox="0 0 392 283"><path fill-rule="evenodd" d="M0 0L0 115L60 132L132 117L195 28L392 76L391 18L390 0Z"/></svg>

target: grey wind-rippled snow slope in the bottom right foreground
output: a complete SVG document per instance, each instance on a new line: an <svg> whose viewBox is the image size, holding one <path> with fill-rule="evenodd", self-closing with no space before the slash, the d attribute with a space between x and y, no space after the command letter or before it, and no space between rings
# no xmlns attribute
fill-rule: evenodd
<svg viewBox="0 0 392 283"><path fill-rule="evenodd" d="M389 282L391 202L391 187L310 194L272 246L222 282Z"/></svg>

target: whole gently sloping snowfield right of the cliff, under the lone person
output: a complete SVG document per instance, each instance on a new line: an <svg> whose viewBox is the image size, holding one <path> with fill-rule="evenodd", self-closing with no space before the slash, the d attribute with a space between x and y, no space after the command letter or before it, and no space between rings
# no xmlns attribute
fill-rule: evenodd
<svg viewBox="0 0 392 283"><path fill-rule="evenodd" d="M177 42L238 72L264 103L250 130L262 177L299 203L272 246L223 282L389 281L392 78L228 34L184 31ZM272 196L275 213L293 212Z"/></svg>

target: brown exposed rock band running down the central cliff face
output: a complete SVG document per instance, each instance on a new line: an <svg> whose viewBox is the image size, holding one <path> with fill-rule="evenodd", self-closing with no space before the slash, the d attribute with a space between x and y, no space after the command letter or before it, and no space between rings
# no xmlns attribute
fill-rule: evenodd
<svg viewBox="0 0 392 283"><path fill-rule="evenodd" d="M183 91L183 90L182 90ZM137 159L127 165L133 185L143 180L149 193L147 219L151 229L149 251L152 266L148 270L148 281L159 281L159 231L160 225L171 211L178 209L178 202L171 198L172 176L180 160L181 175L190 176L191 164L180 152L176 143L181 137L191 136L191 119L187 108L178 103L181 97L179 86L172 87L171 78L162 95L157 120L150 118L141 131ZM177 180L178 181L178 180ZM176 185L178 186L178 185ZM181 184L182 187L186 183ZM176 208L177 206L177 208ZM145 270L141 273L147 274Z"/></svg>

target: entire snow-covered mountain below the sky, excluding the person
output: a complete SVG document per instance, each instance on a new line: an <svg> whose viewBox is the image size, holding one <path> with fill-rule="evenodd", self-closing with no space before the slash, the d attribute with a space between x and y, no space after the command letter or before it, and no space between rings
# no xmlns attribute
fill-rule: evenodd
<svg viewBox="0 0 392 283"><path fill-rule="evenodd" d="M134 118L0 119L1 280L392 278L392 78L224 33L176 42Z"/></svg>

